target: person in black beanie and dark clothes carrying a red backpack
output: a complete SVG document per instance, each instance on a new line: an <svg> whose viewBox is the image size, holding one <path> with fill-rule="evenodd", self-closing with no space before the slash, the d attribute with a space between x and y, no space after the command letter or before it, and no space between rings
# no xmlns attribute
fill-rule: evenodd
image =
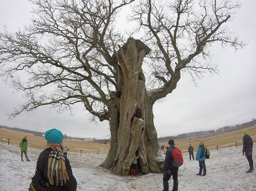
<svg viewBox="0 0 256 191"><path fill-rule="evenodd" d="M163 191L169 191L169 183L168 181L170 180L171 176L173 179L173 189L172 191L177 191L178 190L178 170L179 167L175 167L176 165L173 166L173 154L172 151L176 149L177 147L174 146L174 141L170 139L168 142L169 147L167 146L167 150L165 152L165 163L164 163L164 168L163 168L163 186L164 189ZM182 159L183 161L183 159ZM183 162L182 162L183 163Z"/></svg>

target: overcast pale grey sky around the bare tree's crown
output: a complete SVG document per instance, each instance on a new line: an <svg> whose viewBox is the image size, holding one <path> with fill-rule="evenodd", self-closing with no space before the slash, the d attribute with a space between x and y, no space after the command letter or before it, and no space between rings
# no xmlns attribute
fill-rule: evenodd
<svg viewBox="0 0 256 191"><path fill-rule="evenodd" d="M256 118L256 1L243 0L241 4L228 26L240 40L248 42L247 47L234 52L233 48L223 50L219 44L214 45L212 62L219 64L220 74L205 75L197 81L198 87L189 76L183 76L173 93L154 105L158 137L213 130ZM7 25L9 31L15 32L32 18L28 0L0 0L0 5L0 31ZM57 128L68 136L83 138L106 138L110 134L108 123L89 123L88 112L82 106L77 106L74 116L39 108L8 121L5 114L22 104L24 98L3 81L0 88L0 125L40 132Z"/></svg>

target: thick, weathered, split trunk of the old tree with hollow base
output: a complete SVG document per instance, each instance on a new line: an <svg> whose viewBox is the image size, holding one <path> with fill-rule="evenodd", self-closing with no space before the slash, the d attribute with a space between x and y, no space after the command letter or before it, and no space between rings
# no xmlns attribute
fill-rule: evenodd
<svg viewBox="0 0 256 191"><path fill-rule="evenodd" d="M161 172L163 160L156 160L156 156L161 156L162 153L153 122L153 101L147 94L141 67L148 47L138 47L138 41L136 44L136 41L130 38L125 48L126 54L120 48L118 58L120 97L114 92L110 95L117 107L119 104L119 124L117 117L114 117L117 113L112 114L111 149L104 166L110 168L112 164L111 171L114 174L128 175L134 154L138 151L143 173Z"/></svg>

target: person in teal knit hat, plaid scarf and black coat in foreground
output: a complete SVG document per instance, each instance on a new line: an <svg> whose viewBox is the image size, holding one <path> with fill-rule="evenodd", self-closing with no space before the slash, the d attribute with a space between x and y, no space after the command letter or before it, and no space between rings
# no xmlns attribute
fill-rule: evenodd
<svg viewBox="0 0 256 191"><path fill-rule="evenodd" d="M39 190L42 187L39 185L40 181L36 181L38 173L48 185L45 190L76 191L77 182L70 162L62 152L62 132L57 129L50 129L45 132L44 137L47 141L46 147L38 157L36 163L37 171L35 178L32 178L29 191Z"/></svg>

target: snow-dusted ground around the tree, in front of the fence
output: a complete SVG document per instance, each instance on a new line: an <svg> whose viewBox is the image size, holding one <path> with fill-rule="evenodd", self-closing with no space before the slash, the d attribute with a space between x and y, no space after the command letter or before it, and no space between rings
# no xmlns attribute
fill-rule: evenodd
<svg viewBox="0 0 256 191"><path fill-rule="evenodd" d="M28 148L31 162L20 159L20 148L0 142L0 190L28 191L36 161L42 149ZM256 143L254 144L254 150ZM242 147L210 150L206 176L198 176L198 161L189 160L179 168L179 191L256 191L256 171L246 173L249 164ZM194 153L196 154L196 152ZM24 156L23 156L24 157ZM117 176L98 167L106 155L68 152L78 191L162 191L162 174ZM253 155L254 166L256 157ZM169 181L172 190L172 180Z"/></svg>

